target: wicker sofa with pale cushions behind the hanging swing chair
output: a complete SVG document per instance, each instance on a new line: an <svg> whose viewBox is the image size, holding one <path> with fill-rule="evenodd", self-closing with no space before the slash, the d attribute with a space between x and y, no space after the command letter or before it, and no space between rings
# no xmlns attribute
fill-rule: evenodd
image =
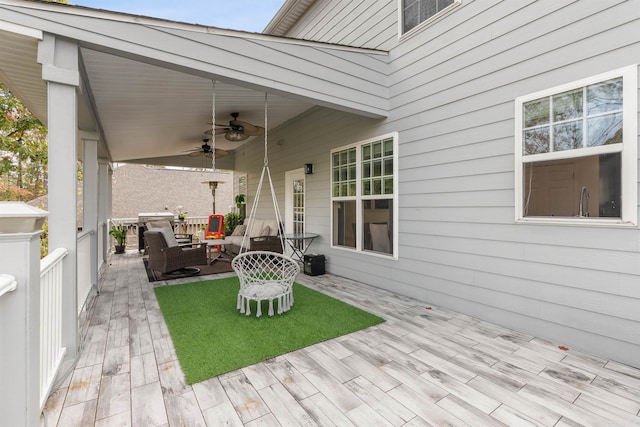
<svg viewBox="0 0 640 427"><path fill-rule="evenodd" d="M242 225L236 227L233 234L226 236L225 249L232 254L239 254L242 247L242 239L247 234L245 248L250 251L269 251L282 253L282 243L279 236L279 227L275 219L258 219L253 221L245 219Z"/></svg>

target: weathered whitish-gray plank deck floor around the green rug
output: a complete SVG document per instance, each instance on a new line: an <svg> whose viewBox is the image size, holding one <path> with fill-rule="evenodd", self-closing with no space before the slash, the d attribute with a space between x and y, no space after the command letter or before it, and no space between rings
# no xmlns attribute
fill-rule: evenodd
<svg viewBox="0 0 640 427"><path fill-rule="evenodd" d="M189 386L140 256L111 263L49 427L640 425L640 370L329 274L298 282L387 322Z"/></svg>

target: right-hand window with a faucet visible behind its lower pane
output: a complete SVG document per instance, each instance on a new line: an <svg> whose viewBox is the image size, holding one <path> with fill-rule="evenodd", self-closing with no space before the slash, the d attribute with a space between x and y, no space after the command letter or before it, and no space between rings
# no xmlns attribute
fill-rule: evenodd
<svg viewBox="0 0 640 427"><path fill-rule="evenodd" d="M516 100L516 219L637 219L637 66Z"/></svg>

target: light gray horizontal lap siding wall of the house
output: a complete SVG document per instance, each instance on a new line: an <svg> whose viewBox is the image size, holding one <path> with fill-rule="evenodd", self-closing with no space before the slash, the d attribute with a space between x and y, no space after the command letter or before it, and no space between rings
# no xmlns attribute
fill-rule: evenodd
<svg viewBox="0 0 640 427"><path fill-rule="evenodd" d="M314 12L351 3L317 2L291 34L312 36ZM283 141L276 189L314 163L307 231L332 273L640 366L638 228L514 222L515 98L640 63L639 28L637 1L463 1L390 50L386 121L316 109L269 133ZM330 149L393 131L399 259L331 248ZM238 166L257 171L261 156Z"/></svg>

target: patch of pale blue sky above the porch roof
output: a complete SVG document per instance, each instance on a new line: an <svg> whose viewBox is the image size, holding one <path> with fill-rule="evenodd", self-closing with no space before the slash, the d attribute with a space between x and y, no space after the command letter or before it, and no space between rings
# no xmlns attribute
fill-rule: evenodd
<svg viewBox="0 0 640 427"><path fill-rule="evenodd" d="M69 3L188 24L262 32L284 0L69 0Z"/></svg>

